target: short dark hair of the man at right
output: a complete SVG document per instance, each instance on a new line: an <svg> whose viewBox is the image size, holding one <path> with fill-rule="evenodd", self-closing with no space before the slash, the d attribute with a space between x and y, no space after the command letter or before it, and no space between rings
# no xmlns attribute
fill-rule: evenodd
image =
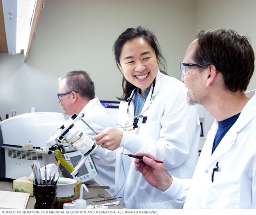
<svg viewBox="0 0 256 215"><path fill-rule="evenodd" d="M193 60L201 67L214 65L231 92L247 89L254 72L254 51L249 40L230 29L199 30Z"/></svg>

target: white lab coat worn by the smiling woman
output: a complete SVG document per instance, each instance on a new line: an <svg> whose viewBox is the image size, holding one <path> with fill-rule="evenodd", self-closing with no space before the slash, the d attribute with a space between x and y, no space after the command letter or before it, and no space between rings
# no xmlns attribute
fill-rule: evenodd
<svg viewBox="0 0 256 215"><path fill-rule="evenodd" d="M119 125L123 126L124 137L117 149L115 193L122 196L121 203L129 209L181 208L166 194L149 185L139 171L134 169L134 159L126 154L147 151L164 162L171 175L180 178L192 177L198 160L200 123L195 106L186 102L187 89L184 84L158 71L156 85L152 86L143 106L143 117L139 127L132 129L133 119L128 117L128 102L119 106ZM151 100L150 100L151 98ZM134 104L130 103L130 115L134 116Z"/></svg>

